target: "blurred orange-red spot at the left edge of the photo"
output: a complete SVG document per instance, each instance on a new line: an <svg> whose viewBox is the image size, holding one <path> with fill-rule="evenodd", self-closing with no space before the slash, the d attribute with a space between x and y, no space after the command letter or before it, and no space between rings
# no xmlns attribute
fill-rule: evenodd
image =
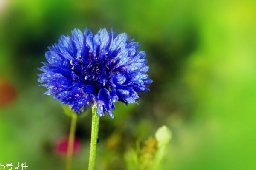
<svg viewBox="0 0 256 170"><path fill-rule="evenodd" d="M16 96L15 87L10 82L0 79L0 108L11 103Z"/></svg>

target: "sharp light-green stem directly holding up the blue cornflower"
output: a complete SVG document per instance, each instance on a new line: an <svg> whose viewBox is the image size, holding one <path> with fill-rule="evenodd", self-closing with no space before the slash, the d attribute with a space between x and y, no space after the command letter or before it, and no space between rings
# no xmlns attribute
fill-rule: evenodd
<svg viewBox="0 0 256 170"><path fill-rule="evenodd" d="M92 120L92 132L91 132L91 143L90 143L90 157L88 170L94 169L95 157L96 157L96 146L99 132L99 116L96 113L97 105L93 105L93 120Z"/></svg>

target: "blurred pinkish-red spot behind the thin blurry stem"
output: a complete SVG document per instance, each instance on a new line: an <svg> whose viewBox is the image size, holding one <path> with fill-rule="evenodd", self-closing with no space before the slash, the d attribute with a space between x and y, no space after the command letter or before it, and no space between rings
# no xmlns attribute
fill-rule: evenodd
<svg viewBox="0 0 256 170"><path fill-rule="evenodd" d="M64 137L59 139L55 144L55 150L57 153L61 155L66 155L68 146L68 138ZM75 138L73 145L73 153L77 153L79 151L80 142L79 139Z"/></svg>

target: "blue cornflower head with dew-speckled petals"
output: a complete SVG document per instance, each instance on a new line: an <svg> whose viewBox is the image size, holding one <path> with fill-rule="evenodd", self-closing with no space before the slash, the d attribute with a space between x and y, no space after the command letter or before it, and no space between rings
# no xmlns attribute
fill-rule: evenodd
<svg viewBox="0 0 256 170"><path fill-rule="evenodd" d="M98 115L107 112L111 118L117 101L137 103L137 92L149 91L145 86L152 80L146 74L146 53L137 51L138 42L128 39L126 33L116 35L105 28L95 35L87 28L84 34L74 29L72 36L62 35L48 47L48 63L38 68L44 72L38 74L38 82L48 89L44 94L55 94L54 100L71 105L79 114L96 102Z"/></svg>

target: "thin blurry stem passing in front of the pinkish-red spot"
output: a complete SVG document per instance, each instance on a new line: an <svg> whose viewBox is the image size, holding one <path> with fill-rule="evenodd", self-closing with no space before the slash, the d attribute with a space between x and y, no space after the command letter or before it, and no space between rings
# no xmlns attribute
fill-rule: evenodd
<svg viewBox="0 0 256 170"><path fill-rule="evenodd" d="M67 164L66 169L71 170L72 167L72 156L73 156L73 147L74 147L74 139L75 139L75 131L76 131L76 120L77 115L71 116L71 125L70 125L70 134L68 137L68 146L67 146Z"/></svg>

